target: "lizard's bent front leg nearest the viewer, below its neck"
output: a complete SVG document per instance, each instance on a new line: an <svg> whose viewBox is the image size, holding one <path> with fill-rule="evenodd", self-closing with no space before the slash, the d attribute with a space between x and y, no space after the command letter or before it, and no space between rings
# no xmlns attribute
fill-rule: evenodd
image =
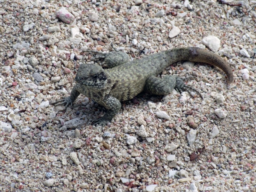
<svg viewBox="0 0 256 192"><path fill-rule="evenodd" d="M107 99L99 103L103 105L107 111L102 118L94 121L94 125L99 124L105 126L121 109L121 103L118 99L112 96L109 96Z"/></svg>

